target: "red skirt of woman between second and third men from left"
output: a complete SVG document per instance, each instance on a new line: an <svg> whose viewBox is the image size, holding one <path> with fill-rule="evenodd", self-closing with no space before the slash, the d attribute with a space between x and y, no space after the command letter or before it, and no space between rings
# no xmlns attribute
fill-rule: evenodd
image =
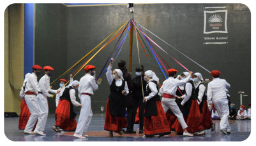
<svg viewBox="0 0 256 146"><path fill-rule="evenodd" d="M70 102L68 100L59 100L55 112L56 123L55 126L59 126L65 131L74 131L77 128L77 121L70 119Z"/></svg>

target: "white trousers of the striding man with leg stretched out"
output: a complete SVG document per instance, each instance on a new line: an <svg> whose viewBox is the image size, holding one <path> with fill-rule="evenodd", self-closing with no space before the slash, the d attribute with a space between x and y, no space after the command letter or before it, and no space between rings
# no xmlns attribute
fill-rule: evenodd
<svg viewBox="0 0 256 146"><path fill-rule="evenodd" d="M177 103L175 102L175 98L162 98L162 106L165 113L167 112L168 109L172 110L172 112L179 120L179 123L181 124L181 127L183 129L188 127L184 121L184 117L181 110L179 109Z"/></svg>

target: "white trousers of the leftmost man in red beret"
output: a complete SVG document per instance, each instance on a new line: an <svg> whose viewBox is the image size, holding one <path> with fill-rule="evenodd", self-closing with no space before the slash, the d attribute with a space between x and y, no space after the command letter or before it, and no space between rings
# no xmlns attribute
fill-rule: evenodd
<svg viewBox="0 0 256 146"><path fill-rule="evenodd" d="M39 114L36 95L25 95L25 101L30 112L29 121L27 121L25 130L32 131L32 129L34 128L34 124L36 124L36 120L38 119Z"/></svg>

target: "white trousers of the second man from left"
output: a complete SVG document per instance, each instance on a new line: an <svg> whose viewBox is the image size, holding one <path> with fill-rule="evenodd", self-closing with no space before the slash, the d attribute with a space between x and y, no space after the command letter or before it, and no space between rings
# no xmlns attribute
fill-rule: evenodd
<svg viewBox="0 0 256 146"><path fill-rule="evenodd" d="M45 124L47 121L48 111L49 111L47 96L44 96L41 93L38 93L36 98L37 98L38 110L39 110L38 123L36 124L36 129L43 131L45 129Z"/></svg>

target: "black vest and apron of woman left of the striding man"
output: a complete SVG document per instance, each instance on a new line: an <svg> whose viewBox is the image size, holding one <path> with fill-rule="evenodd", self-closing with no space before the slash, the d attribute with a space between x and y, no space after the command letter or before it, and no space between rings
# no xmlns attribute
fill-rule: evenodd
<svg viewBox="0 0 256 146"><path fill-rule="evenodd" d="M157 82L156 81L151 81L151 82L156 84L156 89L159 92ZM149 95L151 92L152 91L150 90L149 86L147 86L146 96ZM158 95L158 92L152 98L147 100L145 112L144 112L145 117L156 116L158 114L157 107L156 107L156 101L160 101L160 96Z"/></svg>

